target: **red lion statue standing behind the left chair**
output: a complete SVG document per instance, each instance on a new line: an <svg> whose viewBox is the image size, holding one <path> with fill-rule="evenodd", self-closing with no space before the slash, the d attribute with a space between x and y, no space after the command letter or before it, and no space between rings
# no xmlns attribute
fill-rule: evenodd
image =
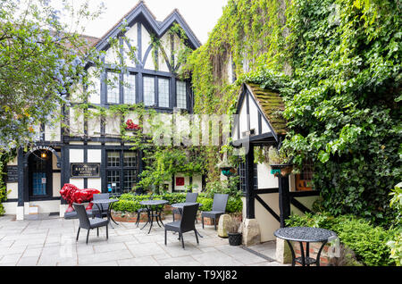
<svg viewBox="0 0 402 284"><path fill-rule="evenodd" d="M73 203L83 203L83 202L92 201L94 194L98 194L98 193L100 193L100 191L97 189L92 189L92 188L79 189L70 183L64 184L63 188L60 189L60 195L69 204L69 207L65 211L66 213L74 211L74 209L72 208ZM91 210L92 206L93 206L93 204L89 203L89 205L85 209Z"/></svg>

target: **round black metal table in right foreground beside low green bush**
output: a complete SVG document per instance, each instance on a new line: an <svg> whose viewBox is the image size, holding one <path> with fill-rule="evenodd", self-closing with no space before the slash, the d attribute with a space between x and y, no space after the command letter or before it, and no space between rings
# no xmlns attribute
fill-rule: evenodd
<svg viewBox="0 0 402 284"><path fill-rule="evenodd" d="M296 263L301 263L302 266L310 266L310 264L315 263L320 266L320 255L323 246L331 239L337 238L337 235L331 230L325 230L321 228L312 227L287 227L276 230L273 235L278 238L285 239L290 246L290 251L292 253L292 266ZM297 241L300 243L300 253L301 257L296 257L295 251L290 241ZM303 243L306 243L306 256L303 249ZM310 257L310 243L322 243L320 250L316 258Z"/></svg>

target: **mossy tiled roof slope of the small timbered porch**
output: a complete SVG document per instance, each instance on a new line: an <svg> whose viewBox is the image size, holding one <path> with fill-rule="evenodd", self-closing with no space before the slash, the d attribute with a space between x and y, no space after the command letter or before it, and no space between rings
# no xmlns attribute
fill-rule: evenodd
<svg viewBox="0 0 402 284"><path fill-rule="evenodd" d="M261 88L255 83L245 83L245 86L255 98L255 102L275 134L277 136L285 135L287 133L287 121L282 115L285 104L281 95L272 89Z"/></svg>

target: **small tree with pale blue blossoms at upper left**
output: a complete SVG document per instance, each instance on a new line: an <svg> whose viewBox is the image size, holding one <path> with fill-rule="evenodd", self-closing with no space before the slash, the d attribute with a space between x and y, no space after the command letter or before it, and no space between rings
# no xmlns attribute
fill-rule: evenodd
<svg viewBox="0 0 402 284"><path fill-rule="evenodd" d="M88 1L77 10L63 4L80 21L100 12L88 12ZM61 13L48 0L0 0L0 152L33 141L39 122L60 121L67 94L84 83L86 62L96 60Z"/></svg>

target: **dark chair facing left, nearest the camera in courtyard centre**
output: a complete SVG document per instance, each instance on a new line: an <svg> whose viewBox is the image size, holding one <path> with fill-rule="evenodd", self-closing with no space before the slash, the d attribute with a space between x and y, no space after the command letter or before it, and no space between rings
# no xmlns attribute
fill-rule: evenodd
<svg viewBox="0 0 402 284"><path fill-rule="evenodd" d="M196 230L196 217L198 211L198 204L183 206L180 221L172 221L164 225L164 245L167 246L167 231L172 230L179 233L181 239L181 246L184 248L183 233L193 230L196 234L197 244L198 236Z"/></svg>

